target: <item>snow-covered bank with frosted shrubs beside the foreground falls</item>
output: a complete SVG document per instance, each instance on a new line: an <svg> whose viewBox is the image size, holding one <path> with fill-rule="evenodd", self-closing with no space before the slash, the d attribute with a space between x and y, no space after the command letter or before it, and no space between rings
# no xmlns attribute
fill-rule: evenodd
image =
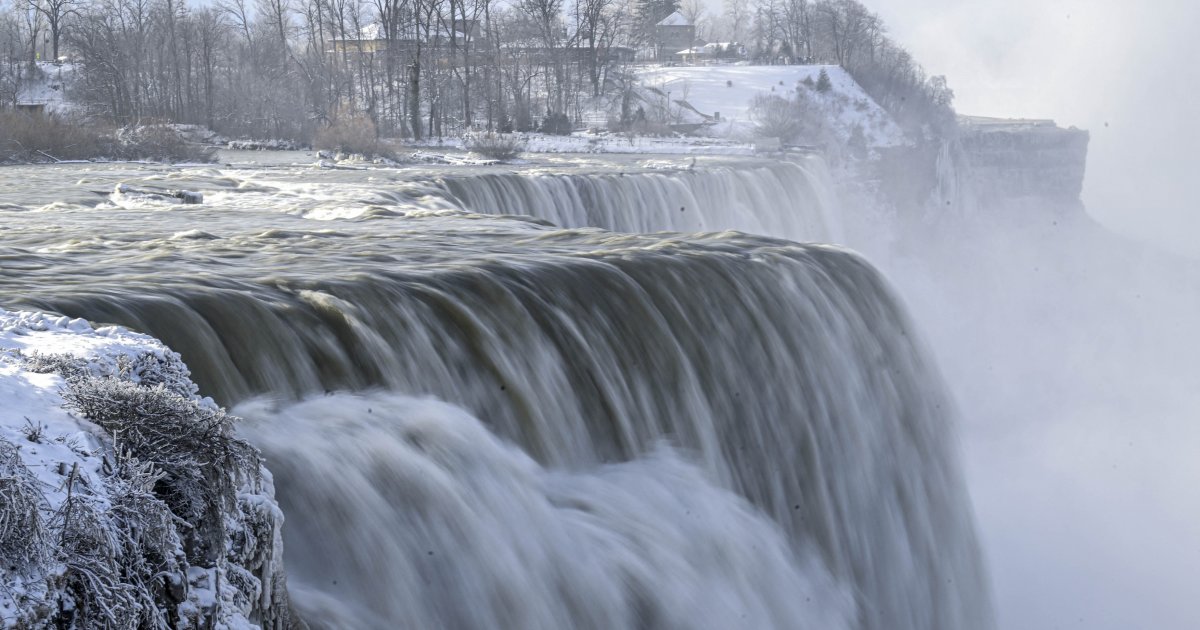
<svg viewBox="0 0 1200 630"><path fill-rule="evenodd" d="M233 421L152 337L0 310L0 628L290 626Z"/></svg>

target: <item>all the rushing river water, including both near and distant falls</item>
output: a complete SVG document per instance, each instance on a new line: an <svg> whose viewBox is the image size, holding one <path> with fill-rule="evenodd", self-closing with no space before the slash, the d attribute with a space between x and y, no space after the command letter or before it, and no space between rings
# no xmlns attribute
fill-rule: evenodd
<svg viewBox="0 0 1200 630"><path fill-rule="evenodd" d="M0 305L246 401L318 625L988 628L953 414L870 265L545 224L829 240L820 164L648 166L10 169Z"/></svg>

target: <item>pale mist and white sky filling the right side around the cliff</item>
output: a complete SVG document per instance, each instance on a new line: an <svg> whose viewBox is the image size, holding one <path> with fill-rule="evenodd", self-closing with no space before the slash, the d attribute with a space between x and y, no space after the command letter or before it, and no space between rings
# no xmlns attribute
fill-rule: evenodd
<svg viewBox="0 0 1200 630"><path fill-rule="evenodd" d="M1034 212L889 270L962 408L1001 628L1200 628L1200 4L870 6L960 113L1090 130L1120 234Z"/></svg>

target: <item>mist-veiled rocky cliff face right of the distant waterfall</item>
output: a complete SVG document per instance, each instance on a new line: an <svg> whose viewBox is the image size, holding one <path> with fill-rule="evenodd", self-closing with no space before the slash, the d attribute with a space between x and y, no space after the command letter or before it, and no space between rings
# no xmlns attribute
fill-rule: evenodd
<svg viewBox="0 0 1200 630"><path fill-rule="evenodd" d="M1088 139L1048 120L962 118L950 138L880 149L835 170L846 242L878 253L943 222L1085 218Z"/></svg>

